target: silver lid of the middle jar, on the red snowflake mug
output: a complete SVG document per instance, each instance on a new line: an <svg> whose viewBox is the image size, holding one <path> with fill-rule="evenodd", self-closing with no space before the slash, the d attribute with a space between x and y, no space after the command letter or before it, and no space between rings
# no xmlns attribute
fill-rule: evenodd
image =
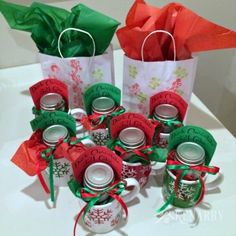
<svg viewBox="0 0 236 236"><path fill-rule="evenodd" d="M120 141L127 148L138 148L145 144L145 134L144 132L136 127L128 127L123 129L119 134Z"/></svg>

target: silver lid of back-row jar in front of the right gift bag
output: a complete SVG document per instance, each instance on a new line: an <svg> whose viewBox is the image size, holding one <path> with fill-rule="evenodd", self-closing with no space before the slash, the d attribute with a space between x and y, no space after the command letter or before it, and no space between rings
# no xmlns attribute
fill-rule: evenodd
<svg viewBox="0 0 236 236"><path fill-rule="evenodd" d="M155 108L154 118L169 120L178 116L178 109L171 104L161 104Z"/></svg>

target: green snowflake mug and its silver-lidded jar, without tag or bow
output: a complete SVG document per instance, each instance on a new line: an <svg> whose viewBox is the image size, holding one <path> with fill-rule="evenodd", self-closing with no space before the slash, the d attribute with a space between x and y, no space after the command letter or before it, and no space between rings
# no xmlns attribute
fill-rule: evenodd
<svg viewBox="0 0 236 236"><path fill-rule="evenodd" d="M174 159L186 166L204 165L205 151L197 143L184 142L177 147ZM182 171L166 169L163 184L163 195L165 199L168 199L175 192L175 181ZM172 205L186 208L196 204L196 199L201 194L201 186L199 185L200 175L200 172L189 170L189 173L178 183L178 194L174 195Z"/></svg>

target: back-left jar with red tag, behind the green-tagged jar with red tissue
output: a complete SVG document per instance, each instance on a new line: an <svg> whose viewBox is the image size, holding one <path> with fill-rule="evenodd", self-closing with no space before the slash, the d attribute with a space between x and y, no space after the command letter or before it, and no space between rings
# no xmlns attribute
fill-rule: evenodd
<svg viewBox="0 0 236 236"><path fill-rule="evenodd" d="M34 102L33 113L36 116L42 112L68 112L68 88L60 80L44 79L29 90Z"/></svg>

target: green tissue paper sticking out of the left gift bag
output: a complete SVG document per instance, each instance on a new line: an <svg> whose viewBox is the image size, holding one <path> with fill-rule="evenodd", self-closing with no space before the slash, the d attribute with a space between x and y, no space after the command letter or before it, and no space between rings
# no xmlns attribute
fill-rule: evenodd
<svg viewBox="0 0 236 236"><path fill-rule="evenodd" d="M27 7L0 1L0 12L12 29L31 33L39 52L53 56L59 56L57 41L66 28L90 33L96 45L95 55L101 55L108 48L120 24L83 4L67 11L38 2ZM65 32L60 47L64 57L91 56L94 49L88 35L77 31Z"/></svg>

